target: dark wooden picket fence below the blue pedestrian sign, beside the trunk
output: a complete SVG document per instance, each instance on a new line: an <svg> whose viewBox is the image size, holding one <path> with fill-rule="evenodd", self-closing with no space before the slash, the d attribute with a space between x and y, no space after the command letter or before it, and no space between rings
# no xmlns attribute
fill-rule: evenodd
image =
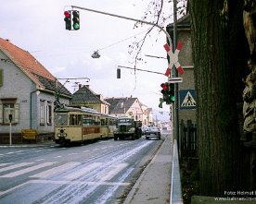
<svg viewBox="0 0 256 204"><path fill-rule="evenodd" d="M181 158L197 157L198 150L198 136L197 125L192 124L191 120L181 120L180 134L178 138L179 154Z"/></svg>

